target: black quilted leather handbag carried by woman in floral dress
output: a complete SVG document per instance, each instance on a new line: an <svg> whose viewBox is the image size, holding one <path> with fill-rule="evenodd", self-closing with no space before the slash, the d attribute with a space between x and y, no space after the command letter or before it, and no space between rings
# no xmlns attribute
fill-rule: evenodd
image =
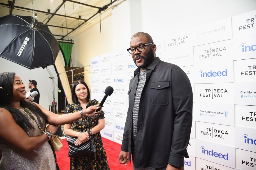
<svg viewBox="0 0 256 170"><path fill-rule="evenodd" d="M90 155L90 153L96 152L93 137L89 136L89 140L78 146L75 146L76 137L68 137L67 142L69 144L69 157L82 157Z"/></svg>

